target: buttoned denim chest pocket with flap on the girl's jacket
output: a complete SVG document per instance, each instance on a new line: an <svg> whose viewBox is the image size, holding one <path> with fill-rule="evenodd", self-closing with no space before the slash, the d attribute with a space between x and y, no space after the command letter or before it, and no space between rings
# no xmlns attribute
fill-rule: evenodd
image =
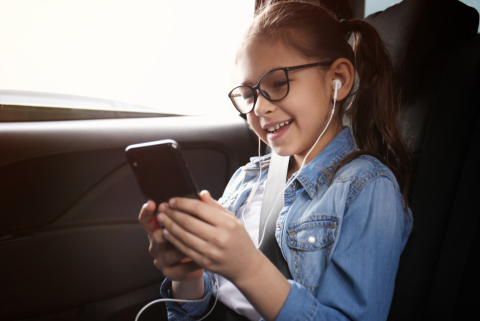
<svg viewBox="0 0 480 321"><path fill-rule="evenodd" d="M318 283L327 268L338 224L338 217L312 215L288 225L287 245L292 254L292 276L312 294L317 293Z"/></svg>

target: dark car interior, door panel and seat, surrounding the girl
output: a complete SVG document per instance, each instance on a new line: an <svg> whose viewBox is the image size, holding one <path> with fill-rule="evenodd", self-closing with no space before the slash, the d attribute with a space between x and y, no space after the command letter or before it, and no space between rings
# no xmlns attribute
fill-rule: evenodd
<svg viewBox="0 0 480 321"><path fill-rule="evenodd" d="M319 2L364 18L364 0ZM414 165L414 230L388 320L470 318L480 301L479 14L458 0L403 0L365 20L393 58ZM199 189L218 199L257 154L256 136L238 115L37 109L0 109L0 319L134 320L164 277L125 148L176 140ZM140 320L167 320L165 304Z"/></svg>

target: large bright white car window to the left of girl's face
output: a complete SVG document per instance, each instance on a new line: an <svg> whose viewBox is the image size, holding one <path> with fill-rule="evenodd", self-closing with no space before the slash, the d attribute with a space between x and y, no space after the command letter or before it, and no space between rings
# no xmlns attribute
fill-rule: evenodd
<svg viewBox="0 0 480 321"><path fill-rule="evenodd" d="M0 105L235 113L227 94L254 7L254 0L1 1Z"/></svg>

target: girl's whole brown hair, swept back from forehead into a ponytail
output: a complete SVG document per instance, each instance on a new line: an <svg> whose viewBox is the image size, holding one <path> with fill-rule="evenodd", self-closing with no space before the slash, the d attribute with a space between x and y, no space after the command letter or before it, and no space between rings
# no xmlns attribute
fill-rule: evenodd
<svg viewBox="0 0 480 321"><path fill-rule="evenodd" d="M260 41L282 41L305 58L317 61L348 59L358 81L349 97L340 102L339 119L350 117L350 127L358 151L346 155L333 171L360 155L371 155L395 175L408 204L411 161L397 124L398 95L390 55L378 32L363 20L340 23L321 5L282 1L261 8L247 30L237 54ZM353 44L348 43L348 30ZM333 175L331 177L333 177Z"/></svg>

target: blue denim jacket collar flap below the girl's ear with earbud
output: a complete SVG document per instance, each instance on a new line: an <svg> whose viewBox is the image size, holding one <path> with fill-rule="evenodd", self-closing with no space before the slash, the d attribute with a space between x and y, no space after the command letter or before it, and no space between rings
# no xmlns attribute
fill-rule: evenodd
<svg viewBox="0 0 480 321"><path fill-rule="evenodd" d="M354 149L355 142L350 133L350 128L345 127L324 150L303 167L296 180L302 184L310 198L315 196L320 186L328 179L324 170L328 169L328 172L331 173L333 171L331 166L338 164L345 155ZM291 182L289 181L289 183Z"/></svg>

